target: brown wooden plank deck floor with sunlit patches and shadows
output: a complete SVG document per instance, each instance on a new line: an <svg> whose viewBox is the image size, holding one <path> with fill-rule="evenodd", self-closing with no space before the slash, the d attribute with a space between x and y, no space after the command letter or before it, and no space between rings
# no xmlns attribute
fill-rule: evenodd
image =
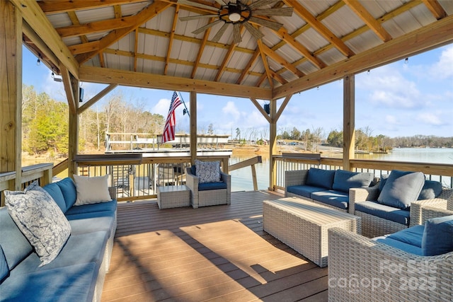
<svg viewBox="0 0 453 302"><path fill-rule="evenodd" d="M231 205L159 210L118 205L102 301L327 301L327 269L263 231L270 192Z"/></svg>

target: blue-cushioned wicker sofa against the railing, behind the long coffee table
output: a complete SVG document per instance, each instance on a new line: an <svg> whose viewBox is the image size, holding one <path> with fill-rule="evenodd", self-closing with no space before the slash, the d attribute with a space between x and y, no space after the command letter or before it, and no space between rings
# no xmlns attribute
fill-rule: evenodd
<svg viewBox="0 0 453 302"><path fill-rule="evenodd" d="M348 212L350 199L371 200L377 182L372 173L318 168L292 170L285 172L285 197L302 197ZM370 186L374 187L365 190Z"/></svg>

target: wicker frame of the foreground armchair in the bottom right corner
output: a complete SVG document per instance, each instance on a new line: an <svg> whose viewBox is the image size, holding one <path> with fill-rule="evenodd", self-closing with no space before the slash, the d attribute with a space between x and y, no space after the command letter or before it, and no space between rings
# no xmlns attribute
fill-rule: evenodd
<svg viewBox="0 0 453 302"><path fill-rule="evenodd" d="M452 214L422 208L422 221ZM340 228L328 232L328 301L452 300L453 252L418 256Z"/></svg>

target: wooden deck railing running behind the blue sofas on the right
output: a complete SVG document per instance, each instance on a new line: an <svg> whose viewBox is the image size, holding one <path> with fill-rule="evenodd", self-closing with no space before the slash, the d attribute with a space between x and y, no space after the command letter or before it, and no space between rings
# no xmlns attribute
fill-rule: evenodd
<svg viewBox="0 0 453 302"><path fill-rule="evenodd" d="M276 163L275 190L285 190L285 171L306 170L311 167L326 170L343 168L342 158L305 158L301 156L273 156ZM453 187L453 165L441 163L413 163L406 161L371 161L351 159L350 165L356 172L371 172L376 177L389 174L391 170L420 171L429 180L437 180L444 187Z"/></svg>

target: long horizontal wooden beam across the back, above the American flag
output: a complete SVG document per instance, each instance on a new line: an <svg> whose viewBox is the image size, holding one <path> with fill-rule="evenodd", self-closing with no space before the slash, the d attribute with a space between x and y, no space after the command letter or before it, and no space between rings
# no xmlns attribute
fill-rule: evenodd
<svg viewBox="0 0 453 302"><path fill-rule="evenodd" d="M145 74L120 69L105 69L93 66L80 67L80 80L93 83L117 83L124 86L164 89L169 91L196 91L213 95L226 95L239 98L259 98L270 100L272 91L266 88L247 87L229 83Z"/></svg>

